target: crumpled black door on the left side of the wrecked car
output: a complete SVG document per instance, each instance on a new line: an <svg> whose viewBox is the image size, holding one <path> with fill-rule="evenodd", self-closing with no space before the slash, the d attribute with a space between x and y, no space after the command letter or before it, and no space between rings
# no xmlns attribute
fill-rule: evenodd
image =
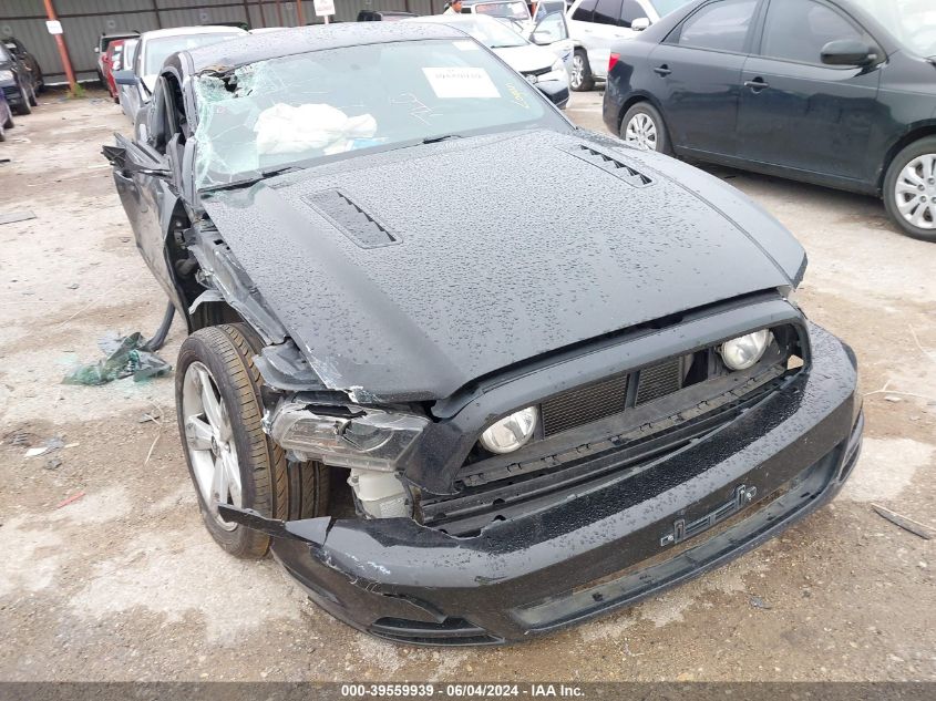
<svg viewBox="0 0 936 701"><path fill-rule="evenodd" d="M178 203L181 175L178 158L169 146L177 143L169 118L169 91L160 78L153 93L153 104L145 112L146 141L116 135L116 146L105 146L111 162L114 184L133 228L136 247L155 278L176 307L183 309L169 267L166 237Z"/></svg>

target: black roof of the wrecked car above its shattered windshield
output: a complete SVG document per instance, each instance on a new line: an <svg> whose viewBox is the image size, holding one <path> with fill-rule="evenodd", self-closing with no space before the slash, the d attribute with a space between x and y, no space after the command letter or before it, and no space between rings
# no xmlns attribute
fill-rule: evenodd
<svg viewBox="0 0 936 701"><path fill-rule="evenodd" d="M245 34L241 39L199 47L185 53L192 61L191 70L197 73L208 66L233 68L309 51L421 39L464 39L464 32L444 24L348 22L328 27L318 24L285 29L281 32L266 34Z"/></svg>

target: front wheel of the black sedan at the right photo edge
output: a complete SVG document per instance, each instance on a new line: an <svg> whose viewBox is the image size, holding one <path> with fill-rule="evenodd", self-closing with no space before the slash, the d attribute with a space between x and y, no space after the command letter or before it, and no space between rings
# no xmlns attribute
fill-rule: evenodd
<svg viewBox="0 0 936 701"><path fill-rule="evenodd" d="M936 243L936 136L914 142L891 162L884 206L904 234Z"/></svg>

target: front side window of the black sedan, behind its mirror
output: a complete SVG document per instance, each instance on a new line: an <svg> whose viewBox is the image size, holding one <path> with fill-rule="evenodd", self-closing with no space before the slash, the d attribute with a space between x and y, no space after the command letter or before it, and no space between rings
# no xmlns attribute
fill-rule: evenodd
<svg viewBox="0 0 936 701"><path fill-rule="evenodd" d="M852 22L814 0L771 2L764 22L761 54L783 61L822 63L822 48L839 39L870 43L870 38Z"/></svg>

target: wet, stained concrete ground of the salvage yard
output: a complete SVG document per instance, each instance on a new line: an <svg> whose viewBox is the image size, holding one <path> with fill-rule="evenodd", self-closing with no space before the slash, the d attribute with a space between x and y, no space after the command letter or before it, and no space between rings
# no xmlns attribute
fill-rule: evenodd
<svg viewBox="0 0 936 701"><path fill-rule="evenodd" d="M716 171L805 245L803 306L857 352L865 451L832 505L596 622L504 649L414 649L213 544L171 379L61 384L106 330L154 330L165 297L100 155L128 130L119 107L41 102L0 145L0 214L35 214L0 226L0 679L936 680L933 542L870 506L936 527L936 246L897 234L878 202ZM599 105L575 95L568 113L603 131ZM182 339L176 323L163 357ZM25 457L52 437L64 447Z"/></svg>

